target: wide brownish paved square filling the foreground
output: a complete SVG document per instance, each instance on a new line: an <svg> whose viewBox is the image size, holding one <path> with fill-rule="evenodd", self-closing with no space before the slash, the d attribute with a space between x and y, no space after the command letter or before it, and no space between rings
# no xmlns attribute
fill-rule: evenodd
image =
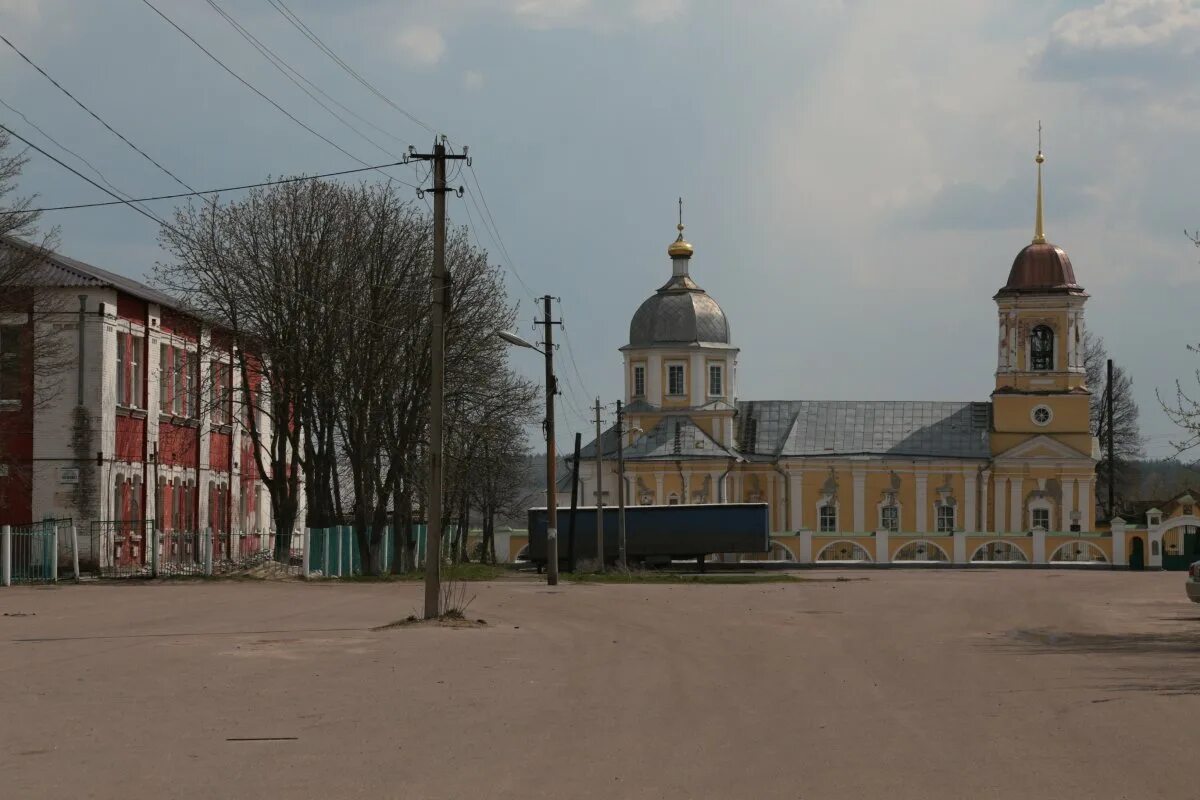
<svg viewBox="0 0 1200 800"><path fill-rule="evenodd" d="M1178 573L0 589L5 798L1195 798ZM865 578L865 579L863 579ZM289 736L282 741L230 741Z"/></svg>

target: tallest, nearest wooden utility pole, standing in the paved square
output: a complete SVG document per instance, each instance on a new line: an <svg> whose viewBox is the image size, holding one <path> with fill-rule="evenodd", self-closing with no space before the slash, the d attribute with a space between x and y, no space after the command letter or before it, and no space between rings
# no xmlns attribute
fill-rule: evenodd
<svg viewBox="0 0 1200 800"><path fill-rule="evenodd" d="M446 161L467 161L467 148L461 155L446 155L445 137L436 139L433 152L419 154L408 149L409 160L433 162L433 281L430 296L430 489L426 510L428 531L425 534L425 619L442 615L442 415L445 410L445 313L450 305L450 278L446 275ZM457 191L462 197L462 190Z"/></svg>

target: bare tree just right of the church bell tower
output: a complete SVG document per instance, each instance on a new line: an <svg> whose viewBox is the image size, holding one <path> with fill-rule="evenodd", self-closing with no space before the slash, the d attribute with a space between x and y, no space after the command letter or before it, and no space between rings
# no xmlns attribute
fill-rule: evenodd
<svg viewBox="0 0 1200 800"><path fill-rule="evenodd" d="M1104 339L1091 331L1084 333L1084 368L1087 386L1092 390L1088 405L1092 435L1100 443L1100 463L1096 465L1096 500L1105 517L1118 513L1138 492L1138 459L1144 455L1141 429L1138 425L1138 402L1133 396L1133 378L1124 367L1112 365L1112 426L1108 420L1108 353ZM1114 464L1108 461L1109 438L1112 439ZM1109 481L1114 483L1116 509L1109 509Z"/></svg>

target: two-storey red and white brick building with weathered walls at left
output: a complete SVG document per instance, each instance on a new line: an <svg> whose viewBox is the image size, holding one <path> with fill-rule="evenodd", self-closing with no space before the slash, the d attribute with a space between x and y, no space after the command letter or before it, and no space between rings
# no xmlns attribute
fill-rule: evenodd
<svg viewBox="0 0 1200 800"><path fill-rule="evenodd" d="M0 315L0 524L127 528L113 559L128 564L148 559L143 521L269 531L228 333L152 287L59 254L36 282L58 297L54 313ZM52 375L32 368L35 325L66 355ZM269 431L265 414L256 422Z"/></svg>

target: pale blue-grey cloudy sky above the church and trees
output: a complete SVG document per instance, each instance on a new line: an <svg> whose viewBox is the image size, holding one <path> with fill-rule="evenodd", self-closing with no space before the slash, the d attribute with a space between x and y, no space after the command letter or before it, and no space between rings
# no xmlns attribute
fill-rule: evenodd
<svg viewBox="0 0 1200 800"><path fill-rule="evenodd" d="M431 131L469 145L450 216L504 266L518 332L536 336L535 295L562 299L562 449L588 440L596 396L622 393L618 348L671 273L680 196L692 277L740 348L740 399L986 399L991 297L1032 235L1039 121L1046 235L1133 375L1147 455L1178 438L1156 390L1200 391L1192 0L284 0L390 103L269 0L150 1L329 142L146 0L0 0L0 32L197 188L388 163ZM5 125L90 176L181 191L2 44L0 100ZM20 190L108 199L37 155ZM164 258L128 207L44 222L64 253L132 277ZM511 357L541 380L536 354Z"/></svg>

